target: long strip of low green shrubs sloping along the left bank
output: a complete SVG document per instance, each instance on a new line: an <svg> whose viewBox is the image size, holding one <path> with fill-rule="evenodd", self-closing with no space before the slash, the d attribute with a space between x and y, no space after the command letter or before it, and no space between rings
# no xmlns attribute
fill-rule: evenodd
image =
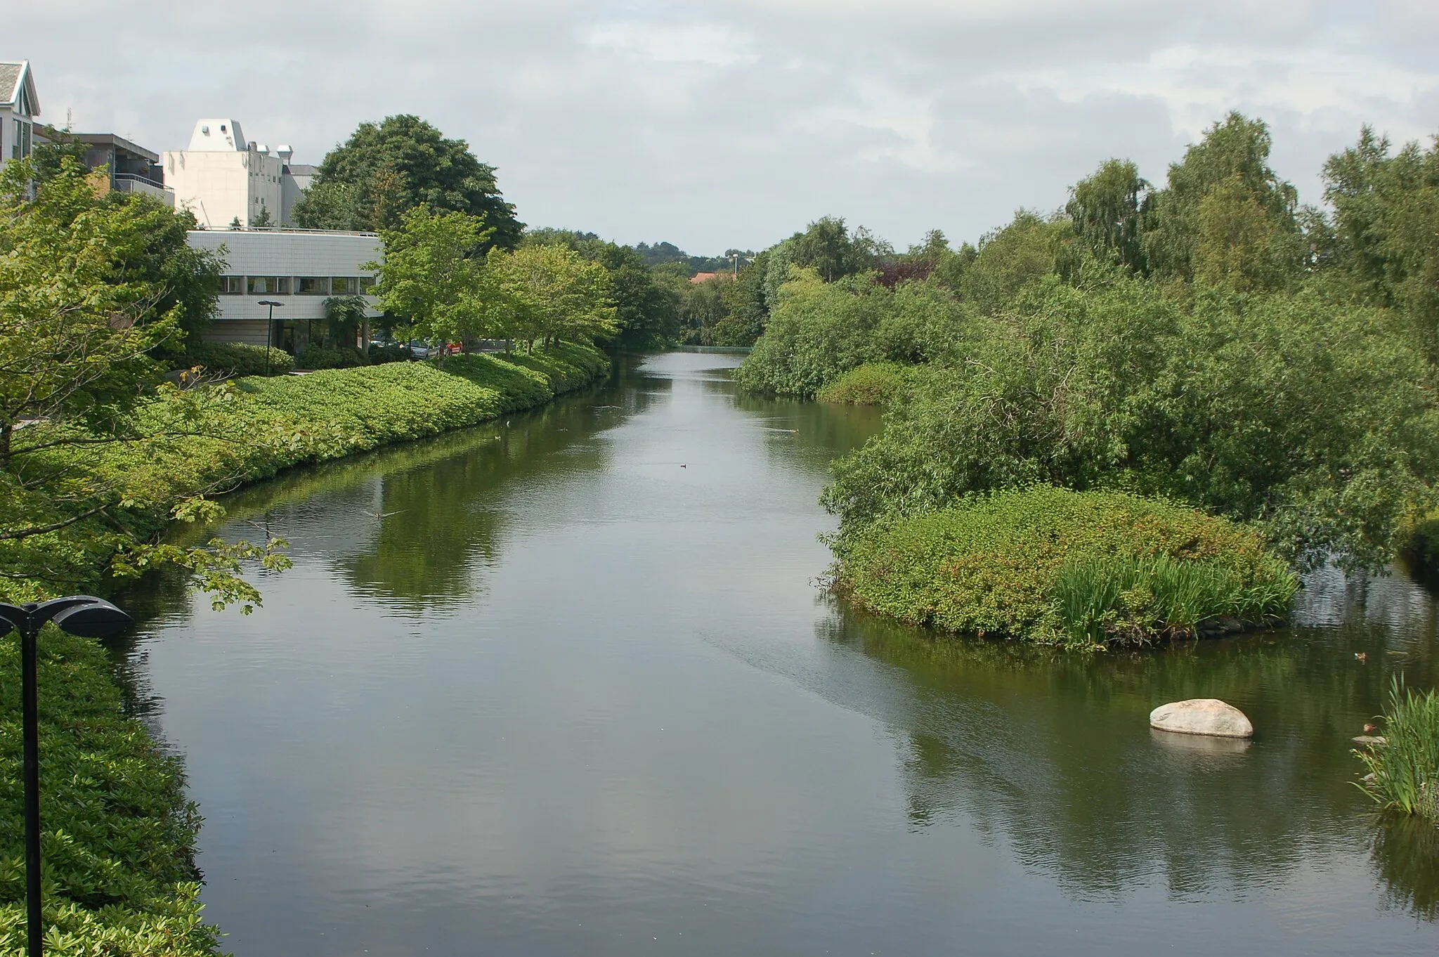
<svg viewBox="0 0 1439 957"><path fill-rule="evenodd" d="M78 462L85 476L114 485L125 507L104 521L0 543L0 571L12 576L0 579L0 596L99 587L111 554L154 535L187 495L475 425L544 403L607 368L599 350L560 344L532 355L452 357L445 370L394 363L168 393L137 413L141 432L157 437L47 453L46 462Z"/></svg>

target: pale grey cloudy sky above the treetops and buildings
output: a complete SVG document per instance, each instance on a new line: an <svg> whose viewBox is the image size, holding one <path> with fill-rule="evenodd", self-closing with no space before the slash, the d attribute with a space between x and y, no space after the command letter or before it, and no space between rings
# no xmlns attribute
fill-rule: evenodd
<svg viewBox="0 0 1439 957"><path fill-rule="evenodd" d="M183 148L197 117L317 163L413 112L532 226L691 252L823 214L896 246L1049 210L1111 155L1163 180L1227 109L1317 201L1361 122L1439 132L1433 0L94 0L14 4L42 119Z"/></svg>

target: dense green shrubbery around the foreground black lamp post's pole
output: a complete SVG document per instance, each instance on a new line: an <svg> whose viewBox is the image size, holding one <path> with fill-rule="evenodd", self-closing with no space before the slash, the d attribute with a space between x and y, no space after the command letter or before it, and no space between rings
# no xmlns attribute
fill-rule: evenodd
<svg viewBox="0 0 1439 957"><path fill-rule="evenodd" d="M0 639L0 953L24 947L20 650ZM193 865L200 816L177 758L134 720L98 643L39 640L46 953L212 954Z"/></svg>

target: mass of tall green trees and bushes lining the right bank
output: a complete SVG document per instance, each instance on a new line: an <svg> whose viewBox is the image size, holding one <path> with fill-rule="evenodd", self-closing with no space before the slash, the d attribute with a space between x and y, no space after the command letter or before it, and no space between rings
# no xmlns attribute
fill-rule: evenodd
<svg viewBox="0 0 1439 957"><path fill-rule="evenodd" d="M894 253L820 220L757 256L764 334L738 381L886 409L823 495L842 584L863 593L875 528L918 534L905 522L1035 484L1225 517L1295 568L1396 555L1439 501L1439 148L1363 131L1325 164L1322 210L1268 154L1265 125L1232 114L1164 186L1111 160L976 246Z"/></svg>

